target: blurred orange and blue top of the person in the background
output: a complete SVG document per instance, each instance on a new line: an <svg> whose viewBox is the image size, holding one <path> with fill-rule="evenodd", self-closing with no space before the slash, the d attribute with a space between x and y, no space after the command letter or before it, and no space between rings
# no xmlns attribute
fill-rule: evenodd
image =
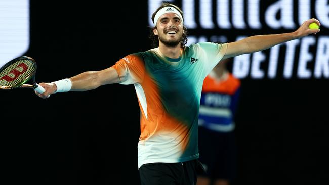
<svg viewBox="0 0 329 185"><path fill-rule="evenodd" d="M239 89L240 80L231 73L226 73L223 81L208 75L202 88L199 126L218 132L232 131Z"/></svg>

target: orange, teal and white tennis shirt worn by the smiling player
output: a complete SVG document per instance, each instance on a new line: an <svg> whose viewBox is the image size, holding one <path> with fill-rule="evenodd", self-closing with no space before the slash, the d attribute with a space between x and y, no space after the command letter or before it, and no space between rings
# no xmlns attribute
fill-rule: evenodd
<svg viewBox="0 0 329 185"><path fill-rule="evenodd" d="M159 48L116 62L120 84L134 84L141 110L138 168L199 157L198 113L204 78L223 58L227 43L200 42L181 49L178 59Z"/></svg>

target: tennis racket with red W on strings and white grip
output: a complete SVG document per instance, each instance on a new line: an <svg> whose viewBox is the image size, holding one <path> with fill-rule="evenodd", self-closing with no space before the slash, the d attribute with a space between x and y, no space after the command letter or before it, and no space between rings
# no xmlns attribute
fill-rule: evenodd
<svg viewBox="0 0 329 185"><path fill-rule="evenodd" d="M39 93L45 88L35 83L36 62L27 56L18 57L0 68L0 89L33 88ZM27 84L32 78L33 84Z"/></svg>

